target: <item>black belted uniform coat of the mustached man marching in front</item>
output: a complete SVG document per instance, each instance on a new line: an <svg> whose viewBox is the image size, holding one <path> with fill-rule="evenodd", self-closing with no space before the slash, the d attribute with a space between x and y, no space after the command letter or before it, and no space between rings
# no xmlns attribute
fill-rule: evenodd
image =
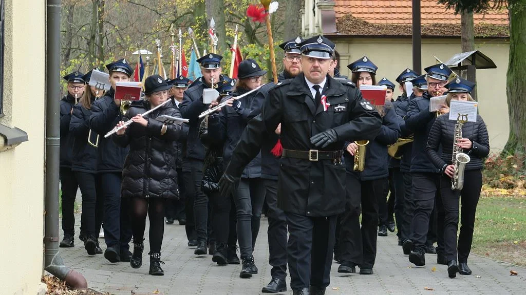
<svg viewBox="0 0 526 295"><path fill-rule="evenodd" d="M380 115L358 89L327 76L322 92L330 106L315 106L305 75L286 80L269 91L262 117L267 131L281 123L284 149L317 149L311 136L334 129L338 142L325 150L342 150L346 141L373 140L382 124ZM278 206L306 216L331 216L345 210L345 165L332 160L308 161L282 157L278 178Z"/></svg>

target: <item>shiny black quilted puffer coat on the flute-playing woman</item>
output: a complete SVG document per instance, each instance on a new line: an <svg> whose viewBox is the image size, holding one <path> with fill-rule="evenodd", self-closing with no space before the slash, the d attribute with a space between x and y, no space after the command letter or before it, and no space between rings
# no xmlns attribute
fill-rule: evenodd
<svg viewBox="0 0 526 295"><path fill-rule="evenodd" d="M140 100L131 104L126 117L144 113L150 109L148 101ZM120 146L130 146L123 168L123 197L179 198L177 189L177 145L181 125L168 125L166 133L160 134L163 123L155 120L160 115L181 117L171 103L146 115L148 125L129 125L124 135L114 135L113 140ZM127 120L126 118L124 119Z"/></svg>

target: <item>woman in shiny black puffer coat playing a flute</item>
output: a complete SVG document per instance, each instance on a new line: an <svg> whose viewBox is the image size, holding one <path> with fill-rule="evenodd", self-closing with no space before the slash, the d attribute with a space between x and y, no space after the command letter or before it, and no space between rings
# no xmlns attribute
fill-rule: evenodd
<svg viewBox="0 0 526 295"><path fill-rule="evenodd" d="M165 200L179 197L177 189L177 145L181 125L166 125L155 120L160 115L180 118L179 110L172 103L148 114L141 114L159 106L168 99L168 85L159 75L146 78L145 100L133 102L126 117L134 122L117 131L113 140L123 148L130 147L123 168L122 197L129 199L130 222L133 231L134 251L130 265L139 268L143 264L144 229L146 215L150 221L150 270L153 276L163 276L160 250L163 244ZM124 119L127 120L127 119ZM117 127L124 124L120 121Z"/></svg>

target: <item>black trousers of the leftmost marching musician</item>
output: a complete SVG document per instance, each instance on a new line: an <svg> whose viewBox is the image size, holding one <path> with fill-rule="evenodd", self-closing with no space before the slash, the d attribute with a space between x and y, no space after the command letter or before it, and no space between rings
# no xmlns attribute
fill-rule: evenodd
<svg viewBox="0 0 526 295"><path fill-rule="evenodd" d="M75 235L75 197L77 196L78 183L71 168L60 167L60 193L62 198L62 230L64 236ZM82 231L82 228L81 228Z"/></svg>

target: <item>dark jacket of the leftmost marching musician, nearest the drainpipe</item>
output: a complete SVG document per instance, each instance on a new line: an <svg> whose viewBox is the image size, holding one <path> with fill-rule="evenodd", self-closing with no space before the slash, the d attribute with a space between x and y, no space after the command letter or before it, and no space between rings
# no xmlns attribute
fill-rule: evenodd
<svg viewBox="0 0 526 295"><path fill-rule="evenodd" d="M60 100L60 167L71 168L73 157L73 136L69 133L71 110L75 97L68 94Z"/></svg>

